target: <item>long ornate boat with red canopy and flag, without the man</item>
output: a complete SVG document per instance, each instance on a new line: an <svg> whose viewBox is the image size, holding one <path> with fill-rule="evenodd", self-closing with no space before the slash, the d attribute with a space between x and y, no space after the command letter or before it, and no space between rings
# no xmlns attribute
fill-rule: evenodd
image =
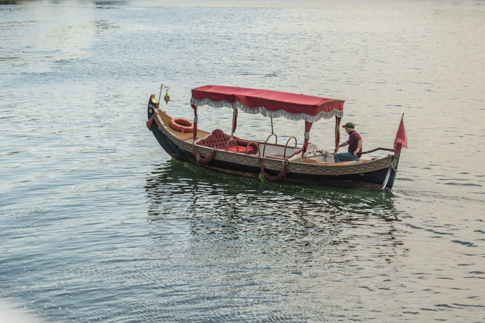
<svg viewBox="0 0 485 323"><path fill-rule="evenodd" d="M194 121L189 121L172 117L162 110L160 98L163 89L166 89L165 102L170 100L170 88L163 84L158 100L155 94L150 95L146 126L172 158L212 171L259 178L263 182L368 187L390 191L396 178L401 148L407 148L404 114L398 134L394 138L393 149L376 148L363 152L359 161L336 163L333 151L320 149L311 143L309 133L313 123L321 119L335 119L331 128L338 146L343 100L290 92L205 85L192 89L190 104L194 109ZM226 132L222 129L205 131L198 128L197 108L205 106L232 109L232 123L221 127ZM235 135L238 111L245 112L245 116L271 119L271 133L266 140L239 138ZM305 123L301 146L294 136L288 138L285 144L277 143L273 126L273 118L277 117ZM364 155L378 150L386 151L383 157L363 158Z"/></svg>

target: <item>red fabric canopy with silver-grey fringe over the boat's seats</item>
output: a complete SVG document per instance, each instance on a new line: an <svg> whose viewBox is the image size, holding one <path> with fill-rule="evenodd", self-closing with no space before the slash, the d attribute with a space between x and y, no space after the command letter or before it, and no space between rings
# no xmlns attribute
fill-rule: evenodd
<svg viewBox="0 0 485 323"><path fill-rule="evenodd" d="M287 92L206 85L192 90L190 103L193 106L238 108L266 117L314 123L321 118L341 118L344 101Z"/></svg>

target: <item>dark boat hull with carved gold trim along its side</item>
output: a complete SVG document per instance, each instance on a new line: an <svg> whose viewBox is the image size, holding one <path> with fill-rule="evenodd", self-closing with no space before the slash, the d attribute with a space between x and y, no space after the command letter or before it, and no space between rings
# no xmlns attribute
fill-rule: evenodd
<svg viewBox="0 0 485 323"><path fill-rule="evenodd" d="M164 113L156 109L155 103L149 103L148 119L157 112L159 114ZM153 118L154 122L151 131L165 152L179 161L189 162L213 171L252 178L258 178L262 169L269 177L276 177L283 171L284 160L282 159L233 153L224 150L216 150L209 163L199 163L197 157L206 157L213 149L194 145L193 139L178 138L173 133L173 129L169 129L168 124L163 120L164 118L156 115ZM388 155L373 161L353 164L315 164L289 161L286 176L283 176L280 182L391 190L396 176L398 161L399 155Z"/></svg>

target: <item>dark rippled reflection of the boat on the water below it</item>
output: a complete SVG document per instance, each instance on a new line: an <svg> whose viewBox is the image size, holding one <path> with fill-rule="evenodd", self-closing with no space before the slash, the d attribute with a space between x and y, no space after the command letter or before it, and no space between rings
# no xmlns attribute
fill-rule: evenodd
<svg viewBox="0 0 485 323"><path fill-rule="evenodd" d="M146 193L151 234L163 244L210 243L215 252L232 241L235 252L319 255L337 262L355 261L356 254L392 261L404 252L390 192L214 176L172 159L147 175Z"/></svg>

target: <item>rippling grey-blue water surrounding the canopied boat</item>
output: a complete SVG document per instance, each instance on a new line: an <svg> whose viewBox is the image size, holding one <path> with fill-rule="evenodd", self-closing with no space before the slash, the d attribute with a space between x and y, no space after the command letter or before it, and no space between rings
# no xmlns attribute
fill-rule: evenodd
<svg viewBox="0 0 485 323"><path fill-rule="evenodd" d="M483 1L0 3L4 321L485 322ZM214 175L146 130L162 82L185 117L205 84L344 99L364 149L404 113L409 149L392 193Z"/></svg>

